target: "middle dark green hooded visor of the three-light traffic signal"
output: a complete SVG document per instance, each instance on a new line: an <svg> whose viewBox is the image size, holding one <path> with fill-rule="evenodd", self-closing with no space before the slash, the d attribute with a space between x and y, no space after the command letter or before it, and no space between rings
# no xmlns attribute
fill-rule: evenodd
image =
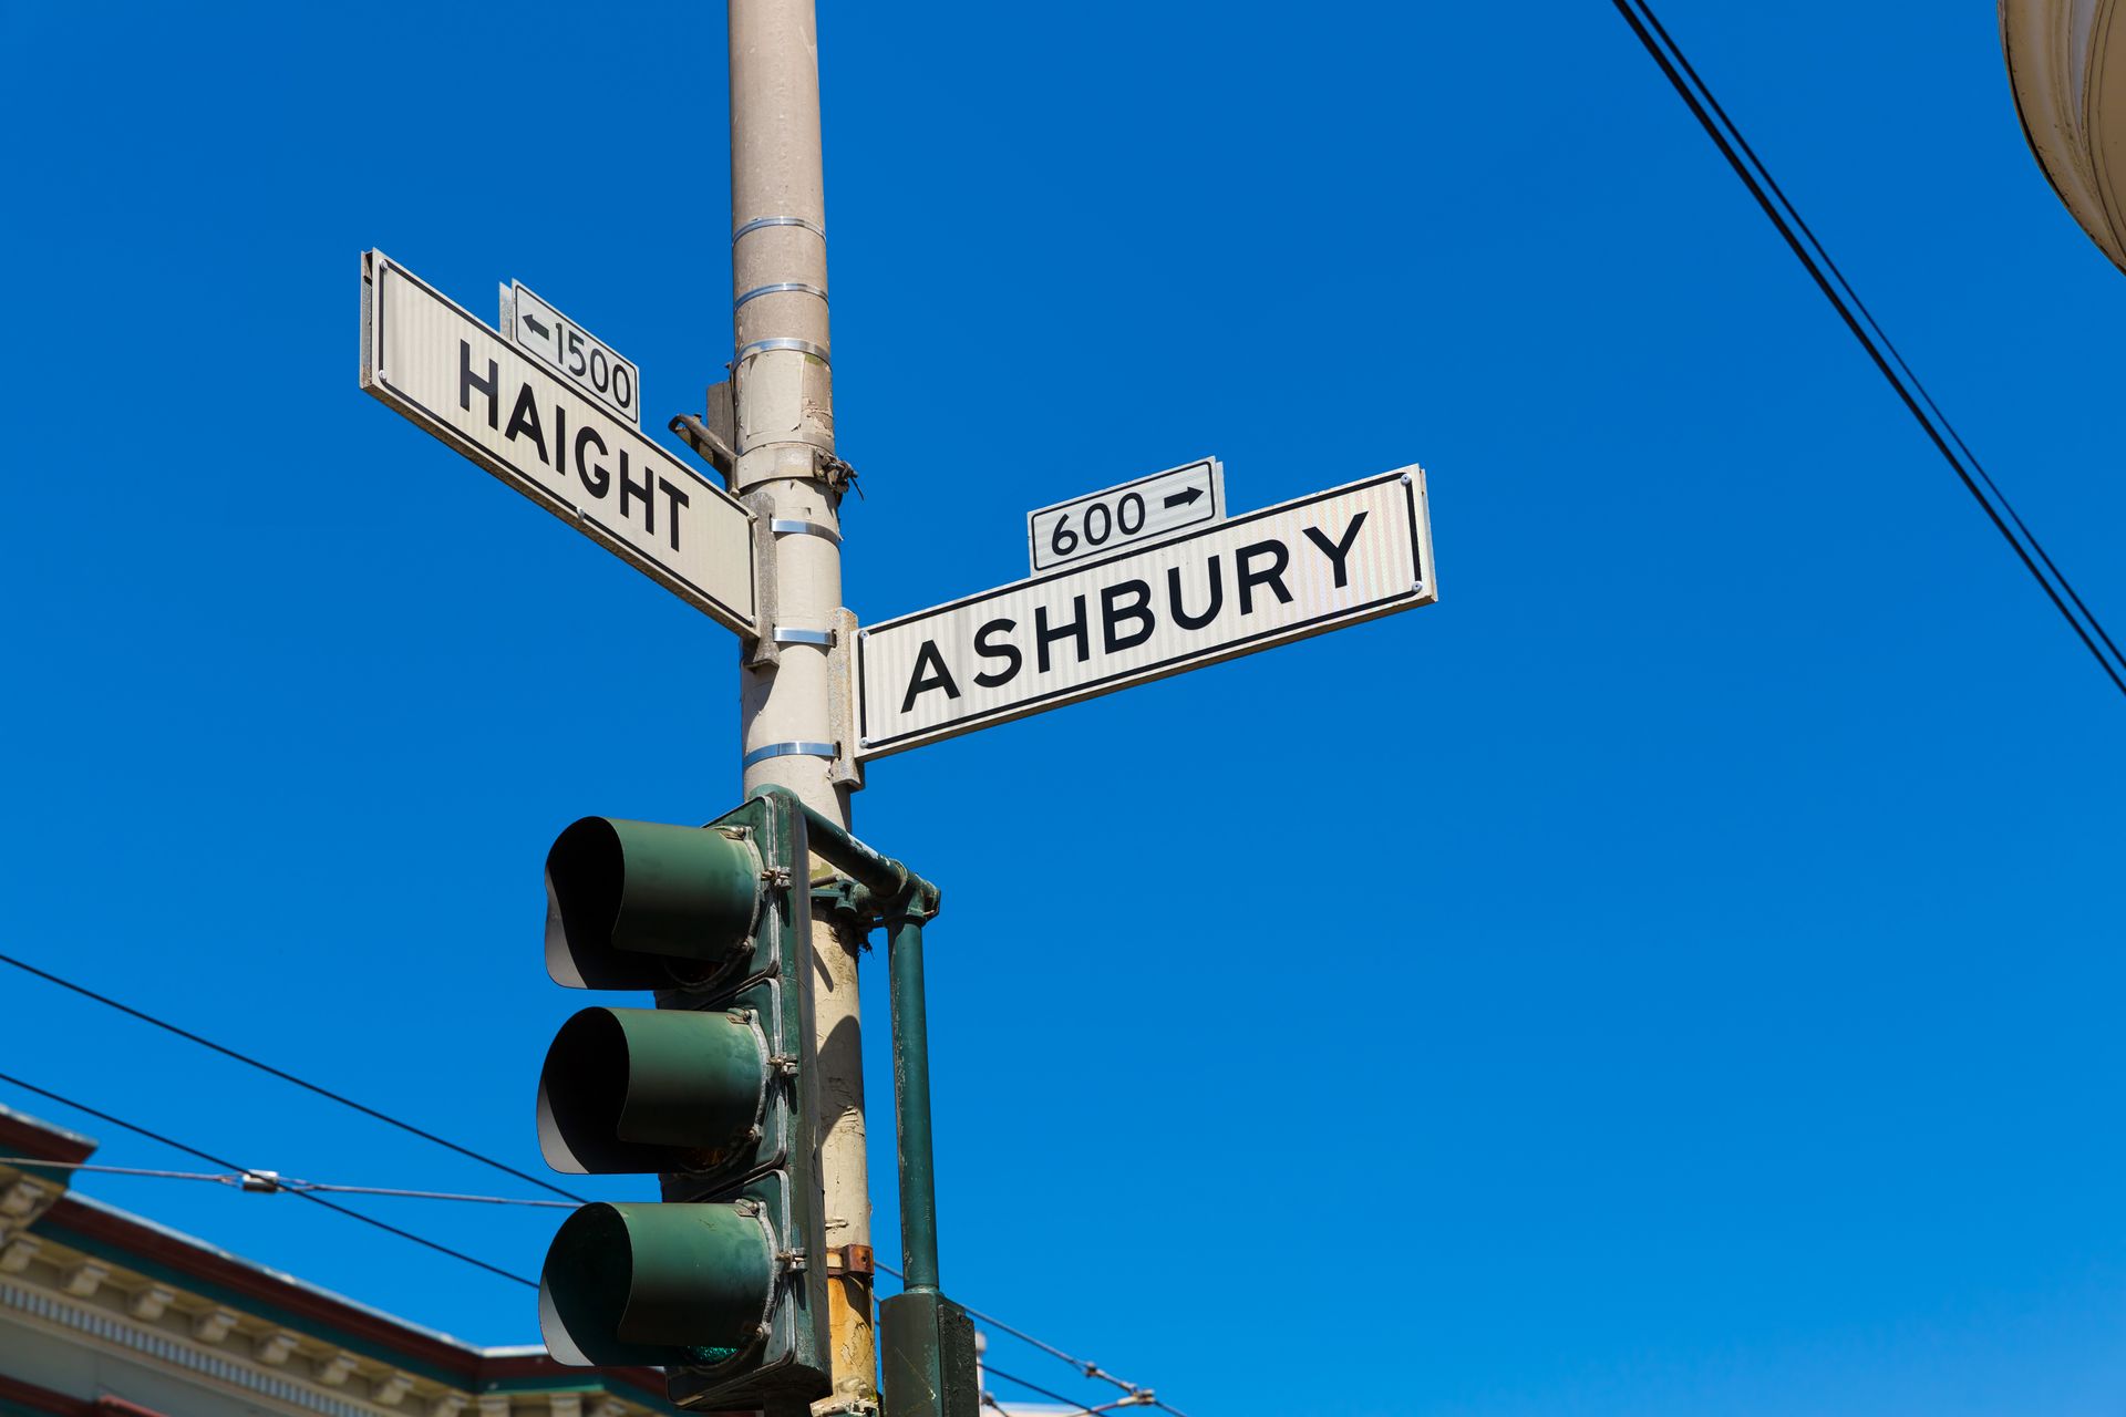
<svg viewBox="0 0 2126 1417"><path fill-rule="evenodd" d="M714 1171L761 1139L767 1073L748 1009L585 1009L546 1049L540 1151L576 1175Z"/></svg>

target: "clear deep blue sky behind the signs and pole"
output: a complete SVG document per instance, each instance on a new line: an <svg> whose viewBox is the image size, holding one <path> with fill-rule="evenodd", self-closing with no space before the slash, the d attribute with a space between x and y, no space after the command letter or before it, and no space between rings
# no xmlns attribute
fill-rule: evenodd
<svg viewBox="0 0 2126 1417"><path fill-rule="evenodd" d="M1612 8L823 11L865 620L1201 455L1235 510L1422 463L1441 578L874 767L859 833L946 888L946 1287L1193 1417L2115 1413L2126 705ZM736 801L736 646L357 391L357 257L483 312L521 278L642 365L646 423L691 408L729 357L721 6L0 15L4 950L536 1168L585 1003L544 848ZM1663 15L2126 622L2126 276L1992 8ZM512 1188L0 1003L0 1071L244 1164ZM289 1198L83 1190L536 1332ZM372 1209L523 1273L555 1224Z"/></svg>

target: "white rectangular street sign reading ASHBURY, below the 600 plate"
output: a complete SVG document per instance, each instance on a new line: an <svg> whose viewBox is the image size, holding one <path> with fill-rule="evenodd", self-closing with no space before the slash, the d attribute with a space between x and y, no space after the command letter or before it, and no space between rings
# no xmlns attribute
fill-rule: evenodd
<svg viewBox="0 0 2126 1417"><path fill-rule="evenodd" d="M857 756L1433 599L1424 472L1386 472L859 631Z"/></svg>

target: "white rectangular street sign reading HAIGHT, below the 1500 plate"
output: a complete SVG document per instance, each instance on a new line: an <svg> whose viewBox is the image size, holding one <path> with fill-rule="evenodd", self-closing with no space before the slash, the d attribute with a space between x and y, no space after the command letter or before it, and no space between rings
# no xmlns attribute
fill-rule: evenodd
<svg viewBox="0 0 2126 1417"><path fill-rule="evenodd" d="M759 633L753 512L381 251L361 387L680 599Z"/></svg>

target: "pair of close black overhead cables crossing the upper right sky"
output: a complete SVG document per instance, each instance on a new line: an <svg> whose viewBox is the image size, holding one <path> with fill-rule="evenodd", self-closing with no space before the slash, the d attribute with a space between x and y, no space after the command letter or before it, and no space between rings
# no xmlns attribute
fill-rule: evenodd
<svg viewBox="0 0 2126 1417"><path fill-rule="evenodd" d="M1839 312L1845 327L1867 351L1875 368L1903 399L1905 408L1920 423L1920 429L1941 453L1941 459L1956 472L1956 478L1964 484L1964 491L1979 503L1986 518L2001 533L2001 540L2013 548L2015 557L2022 561L2030 578L2045 591L2045 597L2060 612L2066 625L2088 648L2090 656L2105 671L2111 684L2126 695L2126 654L2120 652L2117 642L2111 639L2096 612L2088 608L2081 595L2075 591L2066 574L2054 563L2045 552L2037 533L2022 520L2015 508L2009 503L2007 495L2001 491L1998 482L1986 472L1977 455L1962 440L1956 427L1950 423L1941 406L1935 404L1926 385L1913 374L1911 365L1890 342L1890 336L1882 329L1875 317L1869 312L1860 293L1854 291L1852 283L1839 270L1837 261L1816 238L1816 232L1801 217L1801 210L1788 200L1786 191L1779 187L1777 178L1750 147L1750 140L1741 134L1735 119L1728 117L1720 100L1714 98L1711 87L1699 76L1690 59L1684 55L1682 47L1654 15L1654 6L1648 0L1612 0L1616 13L1624 17L1633 34L1646 47L1646 53L1654 57L1660 72L1669 79L1669 85L1684 100L1690 113L1699 119L1705 136L1714 140L1720 155L1726 157L1735 176L1743 181L1756 204L1765 208L1773 227L1786 238L1788 249L1794 259L1809 272L1816 280L1816 289L1824 293L1824 300ZM2041 569L2043 567L2043 569Z"/></svg>

